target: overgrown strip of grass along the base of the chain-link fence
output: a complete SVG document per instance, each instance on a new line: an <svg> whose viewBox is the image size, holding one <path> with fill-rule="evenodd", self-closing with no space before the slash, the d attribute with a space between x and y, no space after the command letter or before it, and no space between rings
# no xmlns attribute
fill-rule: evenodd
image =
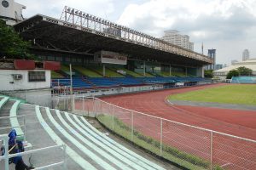
<svg viewBox="0 0 256 170"><path fill-rule="evenodd" d="M112 130L114 133L119 134L125 139L132 141L134 144L142 147L145 150L154 153L156 156L161 156L168 161L172 161L181 167L188 169L208 169L210 162L202 159L199 156L193 156L182 150L162 144L162 154L160 153L160 141L144 135L138 131L133 131L131 134L131 127L127 126L124 122L120 121L117 117L99 115L96 117L105 127ZM114 126L113 126L114 125ZM218 166L214 169L219 169ZM223 169L223 168L220 168Z"/></svg>

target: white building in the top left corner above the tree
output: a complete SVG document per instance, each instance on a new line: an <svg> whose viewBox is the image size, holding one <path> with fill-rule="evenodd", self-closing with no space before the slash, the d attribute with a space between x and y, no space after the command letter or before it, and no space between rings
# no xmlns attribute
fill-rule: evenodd
<svg viewBox="0 0 256 170"><path fill-rule="evenodd" d="M14 0L0 0L0 19L5 20L9 26L15 25L17 22L24 20L22 10L26 8Z"/></svg>

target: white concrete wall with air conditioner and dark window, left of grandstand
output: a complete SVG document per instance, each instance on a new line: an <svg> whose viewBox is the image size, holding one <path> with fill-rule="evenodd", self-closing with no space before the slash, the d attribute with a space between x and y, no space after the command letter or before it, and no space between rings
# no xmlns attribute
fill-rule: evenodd
<svg viewBox="0 0 256 170"><path fill-rule="evenodd" d="M42 71L42 70L33 70ZM22 75L21 80L15 80L12 75ZM27 90L50 88L50 71L45 71L45 82L28 82L28 71L25 70L0 70L0 91Z"/></svg>

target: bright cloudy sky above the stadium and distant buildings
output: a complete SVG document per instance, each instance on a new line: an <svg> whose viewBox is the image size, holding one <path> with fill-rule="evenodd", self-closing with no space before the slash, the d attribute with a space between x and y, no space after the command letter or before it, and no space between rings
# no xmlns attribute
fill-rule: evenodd
<svg viewBox="0 0 256 170"><path fill-rule="evenodd" d="M217 49L217 63L241 60L247 48L256 58L256 0L15 0L26 5L26 18L45 14L60 18L65 5L162 37L177 30L195 42L195 51Z"/></svg>

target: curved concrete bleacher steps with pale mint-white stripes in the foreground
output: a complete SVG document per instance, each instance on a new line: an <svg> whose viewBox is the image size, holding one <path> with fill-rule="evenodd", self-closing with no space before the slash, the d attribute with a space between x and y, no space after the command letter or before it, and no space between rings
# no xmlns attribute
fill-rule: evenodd
<svg viewBox="0 0 256 170"><path fill-rule="evenodd" d="M26 140L32 144L32 149L55 144L67 145L67 169L164 169L108 138L92 127L83 116L23 104L19 100L9 100L5 97L0 99L0 117L9 116L12 107L17 107L18 116L26 116ZM7 126L3 124L3 120L0 121L1 126ZM21 124L22 120L17 122ZM24 159L26 162L32 161L36 167L42 167L60 161L62 153L58 148L24 156ZM54 169L61 170L62 167Z"/></svg>

